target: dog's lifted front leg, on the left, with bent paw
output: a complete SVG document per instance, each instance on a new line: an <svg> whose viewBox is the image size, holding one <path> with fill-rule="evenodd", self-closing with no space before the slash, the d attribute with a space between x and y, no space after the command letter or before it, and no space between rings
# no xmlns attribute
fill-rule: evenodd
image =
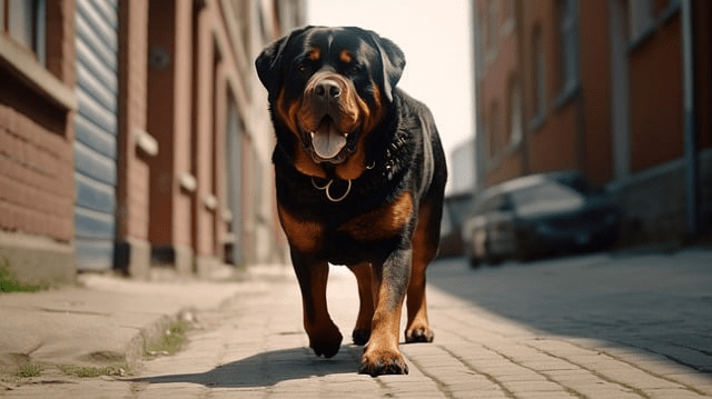
<svg viewBox="0 0 712 399"><path fill-rule="evenodd" d="M329 266L326 261L308 261L295 251L291 251L291 262L301 289L304 329L309 336L309 347L316 356L330 358L338 352L343 337L326 305Z"/></svg>

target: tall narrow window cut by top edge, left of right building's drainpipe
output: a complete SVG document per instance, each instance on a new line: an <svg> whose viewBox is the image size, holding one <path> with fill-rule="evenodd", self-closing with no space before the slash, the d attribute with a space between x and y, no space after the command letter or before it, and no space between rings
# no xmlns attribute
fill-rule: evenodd
<svg viewBox="0 0 712 399"><path fill-rule="evenodd" d="M562 94L575 89L578 79L577 0L558 0L558 57Z"/></svg>

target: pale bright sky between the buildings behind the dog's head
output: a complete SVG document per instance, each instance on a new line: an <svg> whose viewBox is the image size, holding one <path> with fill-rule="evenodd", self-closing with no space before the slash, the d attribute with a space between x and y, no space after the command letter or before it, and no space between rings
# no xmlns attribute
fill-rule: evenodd
<svg viewBox="0 0 712 399"><path fill-rule="evenodd" d="M307 0L307 23L357 26L398 44L406 59L398 87L433 111L449 158L453 148L475 132L469 3L469 0Z"/></svg>

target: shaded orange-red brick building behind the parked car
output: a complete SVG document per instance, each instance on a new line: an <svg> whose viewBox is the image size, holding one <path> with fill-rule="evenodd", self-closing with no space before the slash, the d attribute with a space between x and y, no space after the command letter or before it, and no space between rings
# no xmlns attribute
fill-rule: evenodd
<svg viewBox="0 0 712 399"><path fill-rule="evenodd" d="M479 186L580 170L624 208L633 241L683 237L682 3L474 1ZM696 218L709 228L712 8L691 4Z"/></svg>

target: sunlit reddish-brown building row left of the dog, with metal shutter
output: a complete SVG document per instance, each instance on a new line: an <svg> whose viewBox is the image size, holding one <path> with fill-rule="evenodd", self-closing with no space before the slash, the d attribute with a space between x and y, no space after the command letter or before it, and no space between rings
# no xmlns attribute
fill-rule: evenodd
<svg viewBox="0 0 712 399"><path fill-rule="evenodd" d="M251 66L303 21L301 0L0 0L0 268L279 259Z"/></svg>

